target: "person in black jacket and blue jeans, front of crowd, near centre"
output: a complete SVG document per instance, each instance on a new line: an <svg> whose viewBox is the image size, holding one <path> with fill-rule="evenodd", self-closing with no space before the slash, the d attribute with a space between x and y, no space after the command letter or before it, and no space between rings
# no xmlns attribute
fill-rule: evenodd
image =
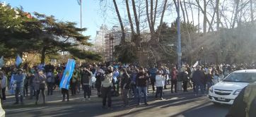
<svg viewBox="0 0 256 117"><path fill-rule="evenodd" d="M136 75L136 85L138 87L138 91L139 91L139 97L138 97L138 103L137 105L139 106L140 102L141 102L141 92L144 94L144 104L147 106L147 88L146 88L146 84L147 84L147 80L148 80L148 74L146 72L144 72L144 68L139 68L139 73L138 75Z"/></svg>

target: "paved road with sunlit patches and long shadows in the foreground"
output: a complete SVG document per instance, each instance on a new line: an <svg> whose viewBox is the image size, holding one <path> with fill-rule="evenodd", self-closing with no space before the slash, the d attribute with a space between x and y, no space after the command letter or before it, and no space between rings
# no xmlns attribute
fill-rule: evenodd
<svg viewBox="0 0 256 117"><path fill-rule="evenodd" d="M212 104L206 96L194 97L193 94L165 96L164 100L149 98L149 106L132 106L122 108L122 101L113 101L113 109L102 109L100 101L74 104L28 106L22 109L6 109L8 117L37 116L178 116L178 117L223 117L230 106Z"/></svg>

